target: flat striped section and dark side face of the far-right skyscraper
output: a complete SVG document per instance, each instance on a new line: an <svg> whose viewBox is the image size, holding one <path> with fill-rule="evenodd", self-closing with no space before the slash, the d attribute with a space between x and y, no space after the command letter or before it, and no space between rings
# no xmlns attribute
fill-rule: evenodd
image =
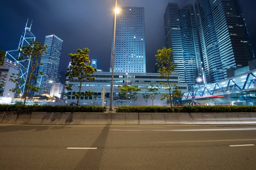
<svg viewBox="0 0 256 170"><path fill-rule="evenodd" d="M239 0L210 0L224 76L227 68L245 67L254 59Z"/></svg>

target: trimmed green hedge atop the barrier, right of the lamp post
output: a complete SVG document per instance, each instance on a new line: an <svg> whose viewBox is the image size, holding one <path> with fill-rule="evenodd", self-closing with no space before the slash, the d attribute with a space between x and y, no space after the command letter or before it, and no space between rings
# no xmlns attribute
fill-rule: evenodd
<svg viewBox="0 0 256 170"><path fill-rule="evenodd" d="M121 106L117 113L232 113L256 112L256 106Z"/></svg>

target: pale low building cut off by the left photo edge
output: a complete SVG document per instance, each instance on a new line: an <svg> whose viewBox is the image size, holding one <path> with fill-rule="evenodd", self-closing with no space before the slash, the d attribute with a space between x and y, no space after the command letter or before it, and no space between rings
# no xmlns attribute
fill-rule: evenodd
<svg viewBox="0 0 256 170"><path fill-rule="evenodd" d="M9 81L9 79L12 74L19 74L20 68L21 65L11 61L10 59L4 58L3 66L0 67L0 103L6 103L6 100L1 101L4 97L12 99L15 96L15 93L10 91L10 89L16 88L16 84Z"/></svg>

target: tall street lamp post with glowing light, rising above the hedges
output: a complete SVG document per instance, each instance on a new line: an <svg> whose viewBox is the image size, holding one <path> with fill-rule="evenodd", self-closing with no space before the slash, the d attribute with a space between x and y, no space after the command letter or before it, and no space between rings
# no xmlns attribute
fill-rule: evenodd
<svg viewBox="0 0 256 170"><path fill-rule="evenodd" d="M117 0L115 9L117 8ZM109 111L113 111L113 86L114 86L114 58L115 58L115 43L116 43L116 12L114 19L114 38L113 38L113 55L112 55L112 81L111 81L111 90L110 90L110 107Z"/></svg>

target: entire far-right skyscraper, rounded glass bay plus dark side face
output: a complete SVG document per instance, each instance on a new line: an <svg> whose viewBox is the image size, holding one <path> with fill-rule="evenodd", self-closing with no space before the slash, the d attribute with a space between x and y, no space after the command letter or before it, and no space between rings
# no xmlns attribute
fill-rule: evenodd
<svg viewBox="0 0 256 170"><path fill-rule="evenodd" d="M207 81L227 78L227 69L254 59L238 0L197 0L195 10Z"/></svg>

